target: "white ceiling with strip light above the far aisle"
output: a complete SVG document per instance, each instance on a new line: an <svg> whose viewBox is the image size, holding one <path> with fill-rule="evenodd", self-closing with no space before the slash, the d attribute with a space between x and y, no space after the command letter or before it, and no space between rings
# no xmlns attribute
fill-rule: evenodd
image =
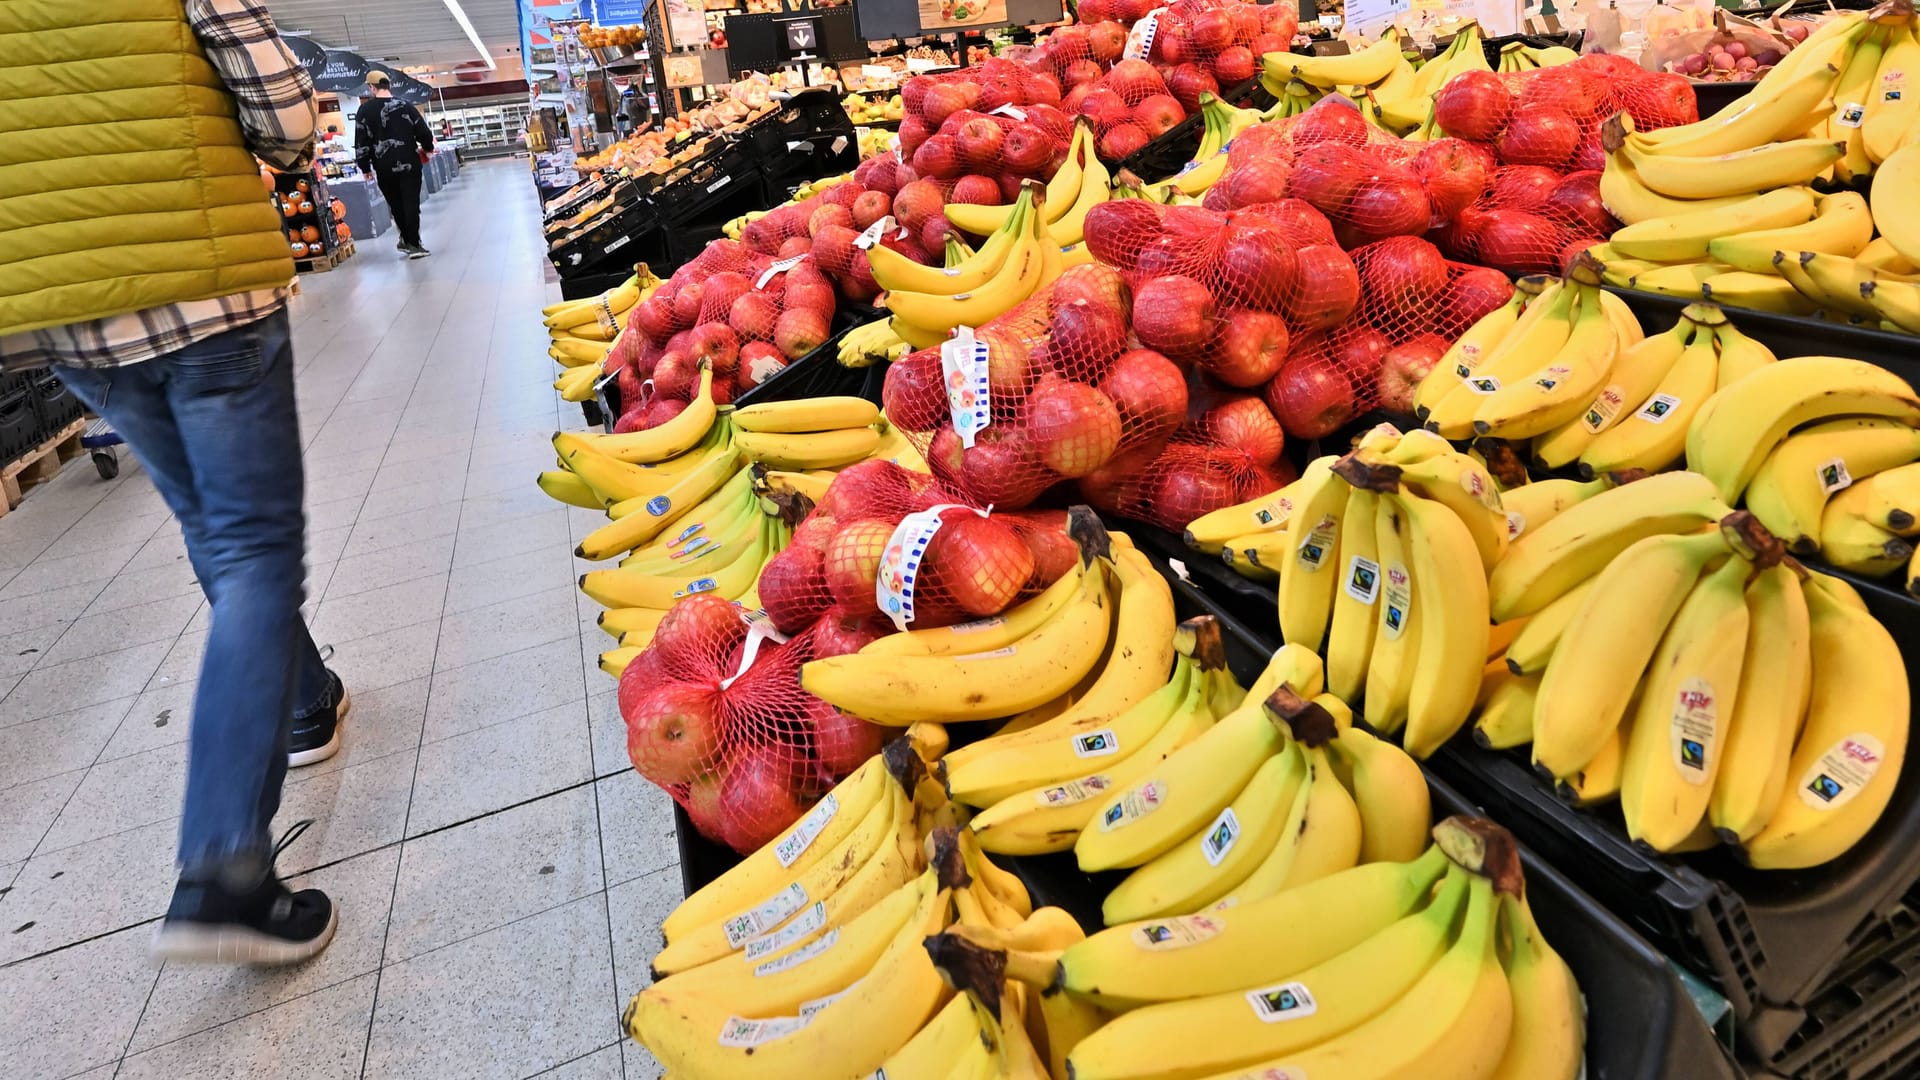
<svg viewBox="0 0 1920 1080"><path fill-rule="evenodd" d="M518 0L461 0L495 61L520 54ZM282 31L305 31L330 48L388 58L394 67L445 69L480 60L445 0L267 0ZM511 63L503 63L511 65Z"/></svg>

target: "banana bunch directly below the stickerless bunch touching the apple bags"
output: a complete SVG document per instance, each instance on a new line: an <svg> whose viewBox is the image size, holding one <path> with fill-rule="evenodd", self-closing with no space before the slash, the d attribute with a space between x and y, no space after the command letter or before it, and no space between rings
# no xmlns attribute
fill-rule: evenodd
<svg viewBox="0 0 1920 1080"><path fill-rule="evenodd" d="M1175 651L1173 675L1131 705L1137 686L1102 692L952 751L947 788L983 807L972 821L979 846L1004 855L1068 851L1102 796L1144 778L1246 698L1227 673L1212 617L1181 623Z"/></svg>

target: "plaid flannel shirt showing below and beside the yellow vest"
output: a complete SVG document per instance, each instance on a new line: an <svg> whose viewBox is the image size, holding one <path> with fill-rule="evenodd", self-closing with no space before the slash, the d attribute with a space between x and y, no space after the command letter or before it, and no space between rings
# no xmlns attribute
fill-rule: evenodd
<svg viewBox="0 0 1920 1080"><path fill-rule="evenodd" d="M280 40L259 0L184 0L186 21L240 108L248 148L275 169L313 161L313 79ZM286 306L292 290L259 288L0 338L0 367L121 367L179 352Z"/></svg>

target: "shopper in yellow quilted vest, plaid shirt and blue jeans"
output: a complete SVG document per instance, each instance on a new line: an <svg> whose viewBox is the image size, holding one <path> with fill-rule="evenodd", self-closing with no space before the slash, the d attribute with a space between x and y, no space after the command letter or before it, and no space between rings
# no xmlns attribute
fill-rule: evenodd
<svg viewBox="0 0 1920 1080"><path fill-rule="evenodd" d="M300 617L294 263L253 161L305 167L315 119L257 0L0 0L0 369L52 363L127 438L213 609L167 959L292 963L334 934L269 840L346 711Z"/></svg>

